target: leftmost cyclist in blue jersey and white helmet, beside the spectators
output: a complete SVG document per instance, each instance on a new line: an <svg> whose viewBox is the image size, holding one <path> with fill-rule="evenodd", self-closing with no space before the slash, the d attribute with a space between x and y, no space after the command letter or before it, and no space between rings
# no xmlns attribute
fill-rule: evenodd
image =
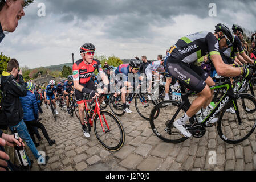
<svg viewBox="0 0 256 182"><path fill-rule="evenodd" d="M46 87L46 90L44 91L44 99L45 101L47 100L48 105L50 106L50 98L52 99L52 103L54 104L54 108L55 108L55 113L59 114L57 111L57 106L56 106L56 102L55 102L55 97L56 97L56 86L55 85L55 81L51 80L49 82L49 85Z"/></svg>

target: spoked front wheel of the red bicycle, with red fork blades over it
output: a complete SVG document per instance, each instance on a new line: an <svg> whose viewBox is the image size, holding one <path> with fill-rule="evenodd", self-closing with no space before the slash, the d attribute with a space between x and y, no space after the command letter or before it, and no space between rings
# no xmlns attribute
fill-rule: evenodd
<svg viewBox="0 0 256 182"><path fill-rule="evenodd" d="M125 140L123 125L116 115L108 110L101 110L100 114L103 126L101 126L99 115L96 114L94 117L94 133L97 140L106 150L120 150ZM109 126L109 130L107 125ZM103 132L103 128L105 132Z"/></svg>

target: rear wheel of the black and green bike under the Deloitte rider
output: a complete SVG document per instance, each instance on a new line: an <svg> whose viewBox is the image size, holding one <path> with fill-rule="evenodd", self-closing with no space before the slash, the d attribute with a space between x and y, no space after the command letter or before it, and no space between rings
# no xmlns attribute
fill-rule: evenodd
<svg viewBox="0 0 256 182"><path fill-rule="evenodd" d="M151 111L151 115L150 115L149 123L151 125L151 129L152 129L153 133L155 133L155 135L158 138L160 138L161 140L163 140L164 142L168 142L168 143L184 142L188 138L183 137L174 126L170 127L169 131L165 130L166 122L169 121L170 119L172 119L172 117L169 117L169 118L162 117L162 109L166 108L168 106L175 106L178 109L178 107L180 106L180 102L168 100L168 101L162 101L162 102L159 102L158 104L156 104L153 107L153 109ZM173 108L173 109L166 108L166 109L168 109L168 111L174 111L174 112L177 111L176 108ZM181 107L181 110L184 111L184 113L185 113L188 109L185 107L185 105L183 105ZM159 112L159 114L157 115L157 117L154 117L156 115L156 112ZM160 117L162 117L163 119ZM166 117L167 117L167 114L166 114ZM178 119L178 118L179 117L176 117L175 119ZM173 130L176 132L173 132ZM177 139L170 138L172 136L175 137L176 135L181 138L177 138Z"/></svg>

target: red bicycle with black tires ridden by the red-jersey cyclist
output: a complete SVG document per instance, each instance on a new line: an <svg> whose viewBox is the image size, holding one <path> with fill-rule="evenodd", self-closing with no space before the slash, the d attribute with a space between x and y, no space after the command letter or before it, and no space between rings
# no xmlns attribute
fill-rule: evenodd
<svg viewBox="0 0 256 182"><path fill-rule="evenodd" d="M91 102L88 104L90 107L95 103L94 110L88 108L87 102ZM88 99L87 95L85 95L84 108L86 113L86 117L84 119L86 121L87 131L90 133L91 127L94 127L94 133L97 140L106 150L120 150L124 145L125 134L123 125L116 115L111 113L111 111L101 109L98 97L91 100Z"/></svg>

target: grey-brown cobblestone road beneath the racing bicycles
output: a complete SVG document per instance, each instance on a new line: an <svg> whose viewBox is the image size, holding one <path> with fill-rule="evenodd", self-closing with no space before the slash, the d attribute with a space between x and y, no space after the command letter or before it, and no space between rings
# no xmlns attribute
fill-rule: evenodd
<svg viewBox="0 0 256 182"><path fill-rule="evenodd" d="M239 144L224 143L218 137L216 127L206 129L202 138L190 138L183 143L162 142L153 134L148 121L137 114L132 102L133 113L119 117L125 129L125 144L117 152L104 150L94 133L84 138L76 117L59 111L58 122L52 113L42 107L42 123L56 144L49 146L44 138L39 151L51 158L46 166L36 162L32 170L255 170L255 131ZM107 110L110 110L107 107ZM41 136L43 134L40 131ZM215 151L217 164L210 165L209 159ZM35 159L29 151L31 159Z"/></svg>

